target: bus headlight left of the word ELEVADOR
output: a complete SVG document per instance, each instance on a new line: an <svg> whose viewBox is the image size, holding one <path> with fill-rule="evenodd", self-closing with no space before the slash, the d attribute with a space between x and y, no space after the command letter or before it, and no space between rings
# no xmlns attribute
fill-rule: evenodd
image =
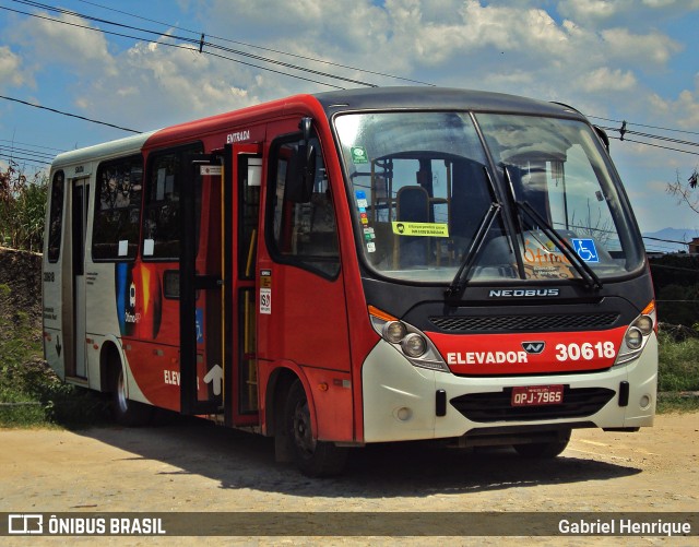
<svg viewBox="0 0 699 547"><path fill-rule="evenodd" d="M415 367L449 372L431 341L419 330L405 321L369 306L371 326L384 341L391 344Z"/></svg>

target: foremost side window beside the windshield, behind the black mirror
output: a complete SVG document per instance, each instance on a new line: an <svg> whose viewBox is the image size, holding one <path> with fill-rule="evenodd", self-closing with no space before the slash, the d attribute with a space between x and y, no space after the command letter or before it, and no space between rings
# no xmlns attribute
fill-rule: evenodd
<svg viewBox="0 0 699 547"><path fill-rule="evenodd" d="M270 211L268 226L273 234L271 251L281 262L295 263L334 277L340 272L337 226L330 194L330 185L320 143L316 148L315 182L310 200L297 203L285 192L295 169L289 168L298 151L299 139L284 139L272 146Z"/></svg>

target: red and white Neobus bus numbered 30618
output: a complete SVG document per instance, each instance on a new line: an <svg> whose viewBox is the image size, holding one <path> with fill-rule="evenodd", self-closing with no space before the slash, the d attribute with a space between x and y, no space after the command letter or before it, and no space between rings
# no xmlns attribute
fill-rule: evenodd
<svg viewBox="0 0 699 547"><path fill-rule="evenodd" d="M648 261L608 141L560 104L299 95L59 155L44 340L67 382L275 438L555 456L655 411Z"/></svg>

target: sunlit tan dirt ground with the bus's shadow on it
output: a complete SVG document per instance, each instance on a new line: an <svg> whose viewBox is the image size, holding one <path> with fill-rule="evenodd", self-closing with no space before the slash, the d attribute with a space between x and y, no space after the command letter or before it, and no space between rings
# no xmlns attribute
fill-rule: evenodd
<svg viewBox="0 0 699 547"><path fill-rule="evenodd" d="M639 433L574 431L561 456L538 463L509 450L374 447L356 451L346 475L332 479L275 464L270 439L196 420L143 429L0 430L0 447L2 512L699 508L699 413L659 416L654 428ZM688 539L683 545L699 544ZM345 545L342 538L324 544Z"/></svg>

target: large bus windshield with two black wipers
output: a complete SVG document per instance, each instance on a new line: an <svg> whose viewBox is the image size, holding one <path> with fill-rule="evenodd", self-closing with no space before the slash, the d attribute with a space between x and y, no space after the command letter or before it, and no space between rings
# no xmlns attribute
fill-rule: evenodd
<svg viewBox="0 0 699 547"><path fill-rule="evenodd" d="M369 112L337 116L335 129L362 249L383 276L599 283L642 263L618 182L582 121Z"/></svg>

